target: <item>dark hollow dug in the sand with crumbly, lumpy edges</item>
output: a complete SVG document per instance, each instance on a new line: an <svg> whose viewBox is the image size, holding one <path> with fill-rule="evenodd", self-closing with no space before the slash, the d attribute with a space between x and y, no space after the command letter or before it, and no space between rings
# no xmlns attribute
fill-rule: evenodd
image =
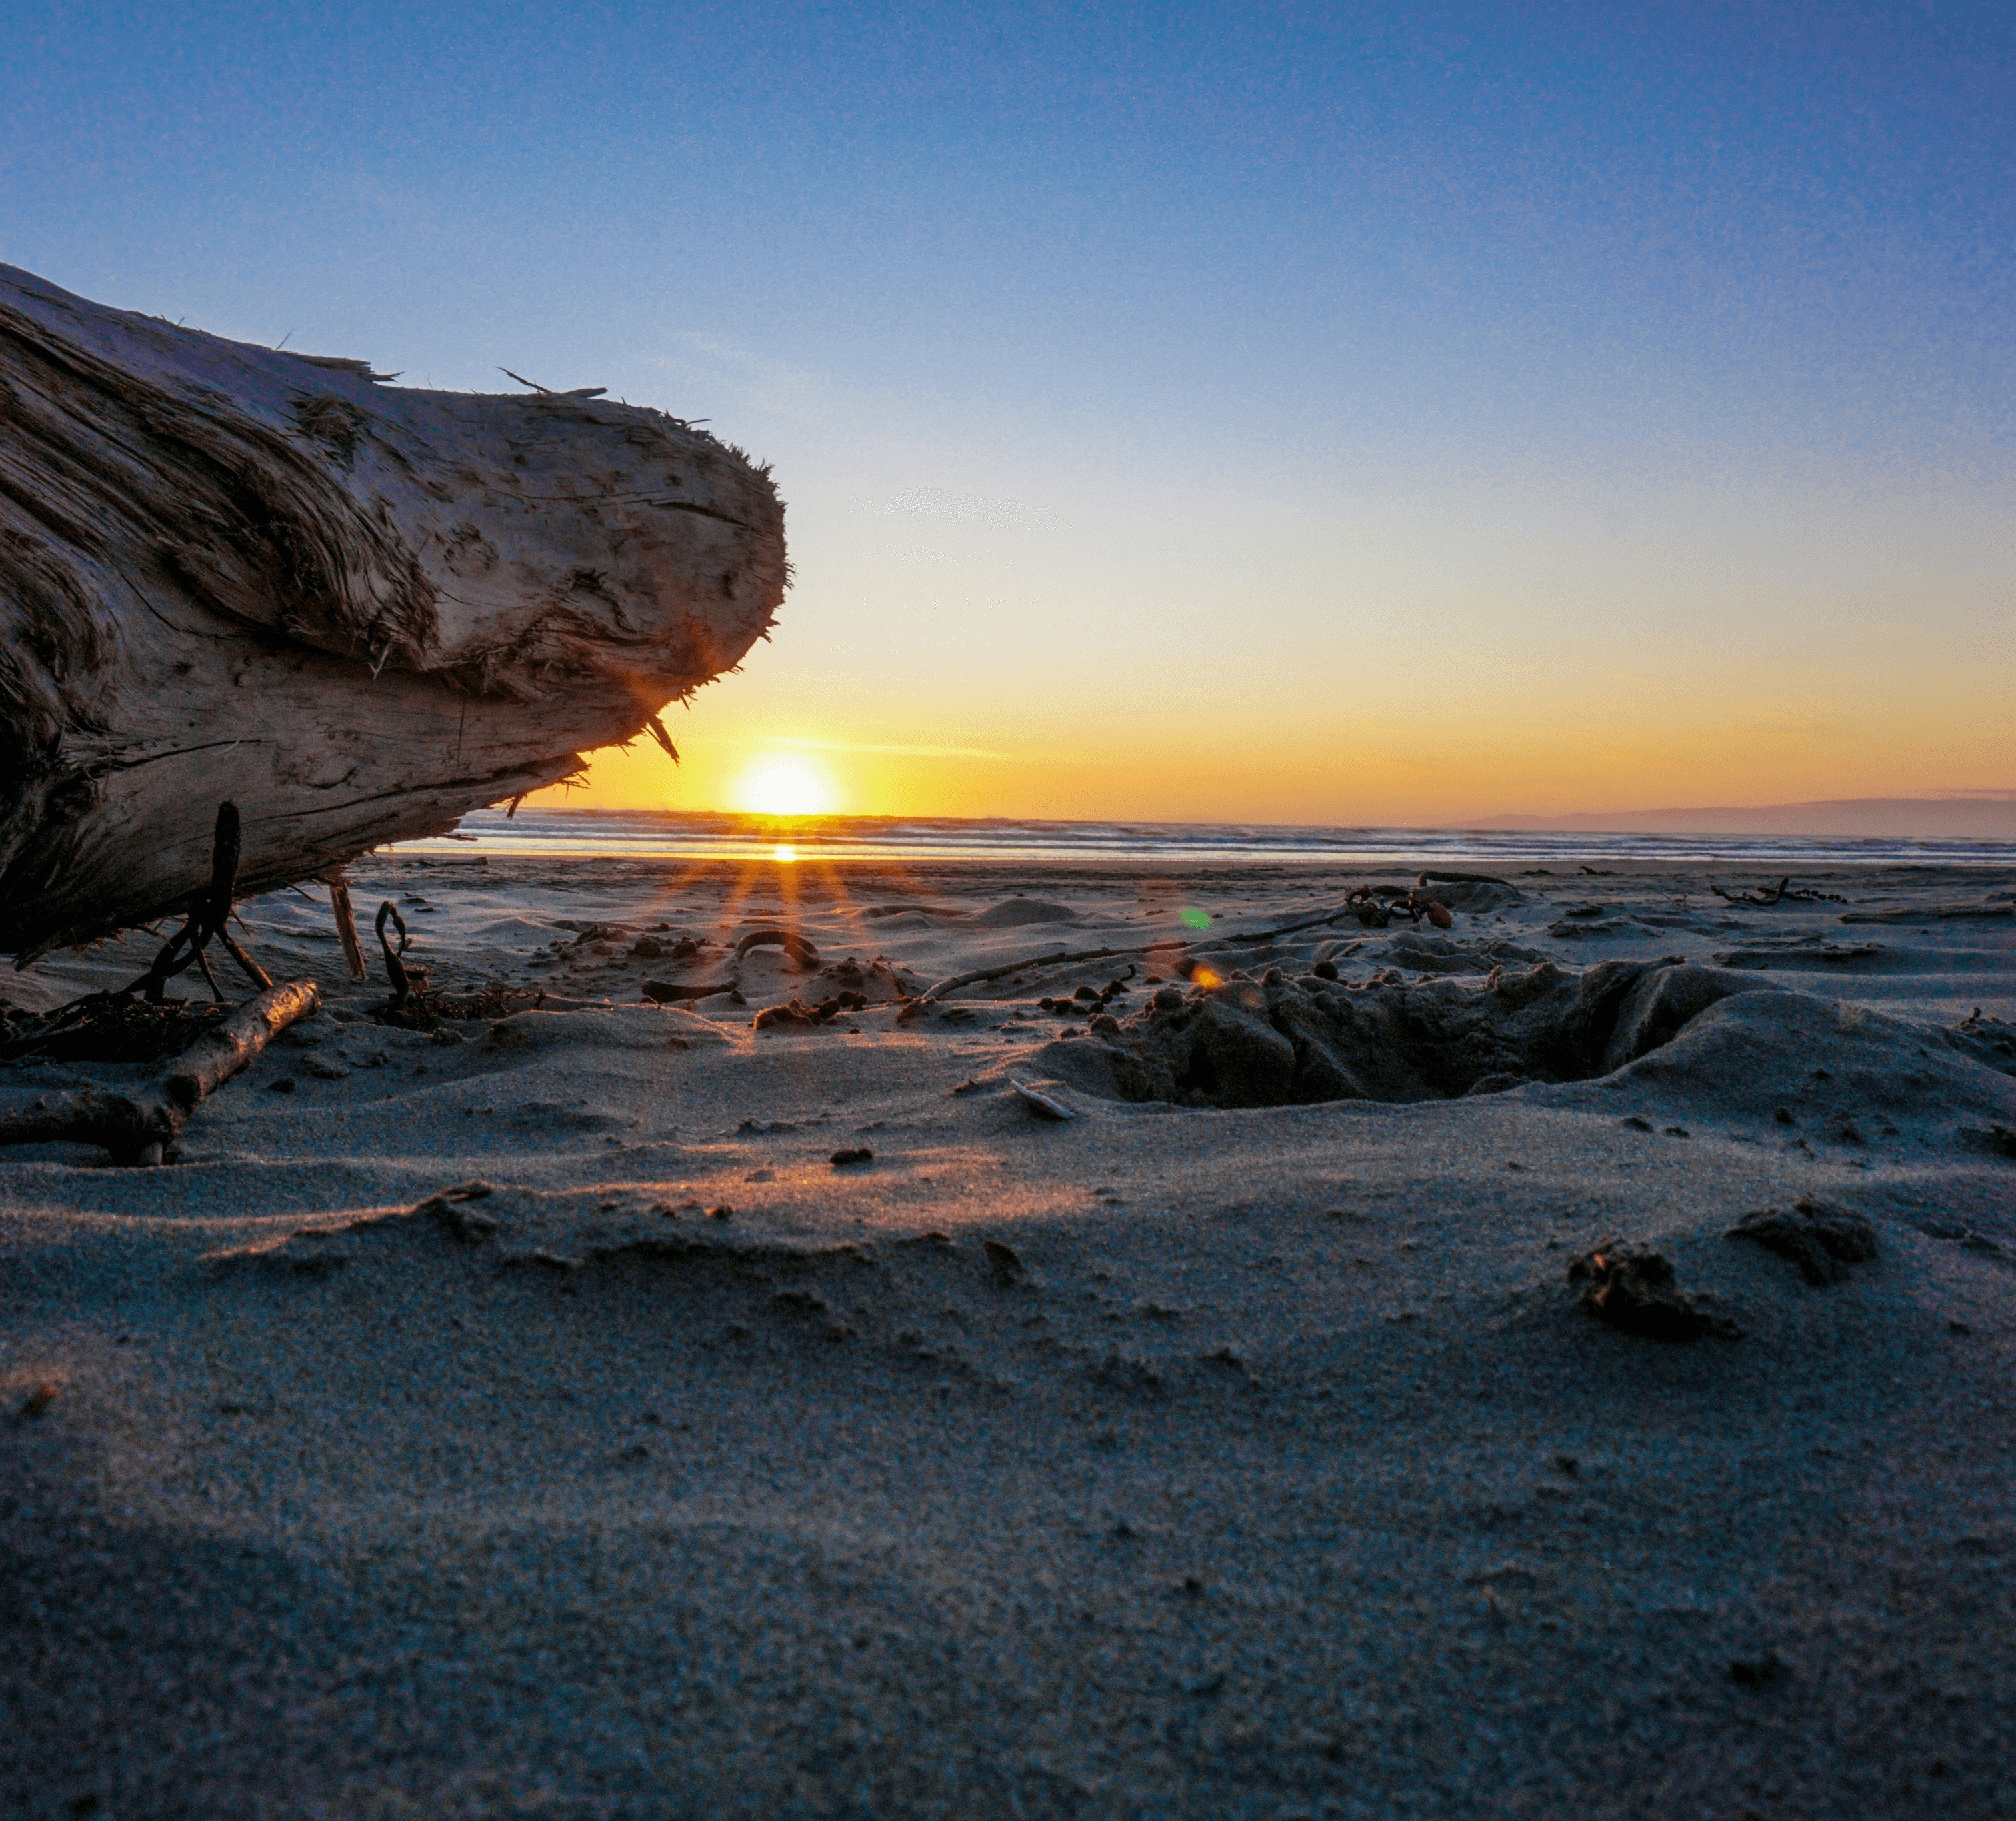
<svg viewBox="0 0 2016 1821"><path fill-rule="evenodd" d="M1585 972L1538 962L1415 980L1383 970L1357 986L1280 968L1258 980L1200 968L1187 992L1161 986L1125 1020L1101 1018L1093 1043L1052 1055L1077 1085L1127 1101L1456 1099L1607 1075L1669 1043L1716 1000L1754 990L1770 982L1691 962L1599 962Z"/></svg>

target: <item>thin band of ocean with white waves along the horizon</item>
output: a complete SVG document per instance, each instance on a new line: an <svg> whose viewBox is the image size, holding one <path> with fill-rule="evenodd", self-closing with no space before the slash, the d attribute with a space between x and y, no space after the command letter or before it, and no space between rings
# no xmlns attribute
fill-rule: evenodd
<svg viewBox="0 0 2016 1821"><path fill-rule="evenodd" d="M637 809L500 809L397 853L665 859L1179 861L1462 867L1726 861L1750 867L2016 865L2012 841L1841 835L1615 835L1466 829L1325 829L1268 823L1036 823L954 817L750 817Z"/></svg>

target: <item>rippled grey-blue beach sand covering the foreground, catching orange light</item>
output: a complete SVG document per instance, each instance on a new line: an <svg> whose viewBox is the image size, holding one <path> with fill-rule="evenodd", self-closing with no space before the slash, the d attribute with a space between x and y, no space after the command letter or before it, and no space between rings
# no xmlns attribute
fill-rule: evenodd
<svg viewBox="0 0 2016 1821"><path fill-rule="evenodd" d="M1792 988L1464 1099L1105 1097L1145 956L1119 1039L1036 1000L1125 958L889 1002L1359 877L379 863L435 984L609 1000L435 1035L369 1020L323 905L246 905L327 1010L179 1162L0 1154L6 1813L2016 1811L2016 1045L1941 1035L2016 1018L2016 916L1839 922L2016 873L1526 875L1439 952L1210 952L1387 982L1351 1004L1532 956ZM752 1030L843 978L730 966L778 922L871 1004ZM1800 1196L1877 1256L1810 1285L1726 1238ZM1605 1236L1742 1339L1593 1319Z"/></svg>

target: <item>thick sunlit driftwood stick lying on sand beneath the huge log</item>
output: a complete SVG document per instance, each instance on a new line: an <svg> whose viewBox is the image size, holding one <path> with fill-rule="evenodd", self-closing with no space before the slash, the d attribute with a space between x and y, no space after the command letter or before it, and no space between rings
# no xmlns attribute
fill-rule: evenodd
<svg viewBox="0 0 2016 1821"><path fill-rule="evenodd" d="M175 1141L204 1097L321 1002L312 980L272 986L198 1037L167 1073L131 1095L79 1087L0 1101L0 1145L67 1139L103 1145L119 1164L159 1164L161 1147Z"/></svg>

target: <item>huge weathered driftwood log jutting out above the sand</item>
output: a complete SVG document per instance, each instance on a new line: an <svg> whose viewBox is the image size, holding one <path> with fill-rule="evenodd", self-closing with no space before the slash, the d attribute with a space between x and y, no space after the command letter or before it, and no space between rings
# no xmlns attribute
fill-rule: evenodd
<svg viewBox="0 0 2016 1821"><path fill-rule="evenodd" d="M768 470L0 266L0 952L329 877L649 730L784 597ZM677 756L677 754L673 754Z"/></svg>

